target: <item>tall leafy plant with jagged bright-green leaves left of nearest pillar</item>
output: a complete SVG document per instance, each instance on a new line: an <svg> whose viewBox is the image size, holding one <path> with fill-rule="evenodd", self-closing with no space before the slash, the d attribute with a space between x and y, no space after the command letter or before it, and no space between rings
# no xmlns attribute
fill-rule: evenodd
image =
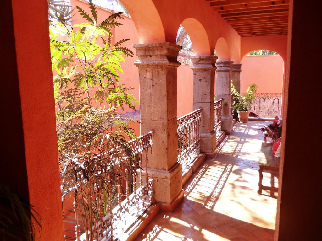
<svg viewBox="0 0 322 241"><path fill-rule="evenodd" d="M119 83L120 63L133 57L122 46L128 39L112 44L111 28L121 25L121 13L98 22L91 1L89 13L76 8L85 22L69 31L53 20L50 39L63 208L71 198L76 237L70 238L79 240L84 232L89 241L97 240L102 226L95 224L110 212L116 195L122 198L124 182L136 175L138 160L127 142L136 136L127 124L131 120L122 119L118 109L135 110L137 100L128 93L133 88Z"/></svg>

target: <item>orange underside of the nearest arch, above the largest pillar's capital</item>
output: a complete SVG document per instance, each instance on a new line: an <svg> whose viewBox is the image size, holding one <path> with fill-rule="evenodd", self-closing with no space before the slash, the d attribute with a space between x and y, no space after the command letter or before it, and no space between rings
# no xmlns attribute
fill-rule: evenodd
<svg viewBox="0 0 322 241"><path fill-rule="evenodd" d="M130 13L140 43L165 42L165 32L156 6L152 0L121 0Z"/></svg>

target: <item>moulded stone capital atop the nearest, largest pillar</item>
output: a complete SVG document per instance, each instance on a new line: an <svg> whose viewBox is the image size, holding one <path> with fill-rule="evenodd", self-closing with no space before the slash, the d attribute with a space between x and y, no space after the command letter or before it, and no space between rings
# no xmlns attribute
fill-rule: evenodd
<svg viewBox="0 0 322 241"><path fill-rule="evenodd" d="M133 47L137 50L138 59L134 64L138 68L153 69L162 68L162 66L177 68L180 66L177 61L180 45L164 42L133 44Z"/></svg>

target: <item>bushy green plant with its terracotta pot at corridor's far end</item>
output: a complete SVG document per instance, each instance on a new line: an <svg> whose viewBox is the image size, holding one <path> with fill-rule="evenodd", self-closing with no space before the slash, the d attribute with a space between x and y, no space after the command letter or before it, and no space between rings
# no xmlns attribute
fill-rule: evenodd
<svg viewBox="0 0 322 241"><path fill-rule="evenodd" d="M233 107L238 113L240 122L246 123L248 121L251 106L255 99L257 87L257 85L251 84L250 86L248 86L245 96L242 96L238 93L235 86L232 84Z"/></svg>

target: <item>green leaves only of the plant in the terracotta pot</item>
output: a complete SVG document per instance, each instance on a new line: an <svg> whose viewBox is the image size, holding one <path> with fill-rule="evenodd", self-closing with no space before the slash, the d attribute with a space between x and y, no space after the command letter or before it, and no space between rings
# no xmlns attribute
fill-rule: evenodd
<svg viewBox="0 0 322 241"><path fill-rule="evenodd" d="M245 96L241 96L238 93L235 86L232 84L232 98L233 98L233 107L236 111L250 111L251 105L255 99L255 93L258 86L251 84L248 86Z"/></svg>

